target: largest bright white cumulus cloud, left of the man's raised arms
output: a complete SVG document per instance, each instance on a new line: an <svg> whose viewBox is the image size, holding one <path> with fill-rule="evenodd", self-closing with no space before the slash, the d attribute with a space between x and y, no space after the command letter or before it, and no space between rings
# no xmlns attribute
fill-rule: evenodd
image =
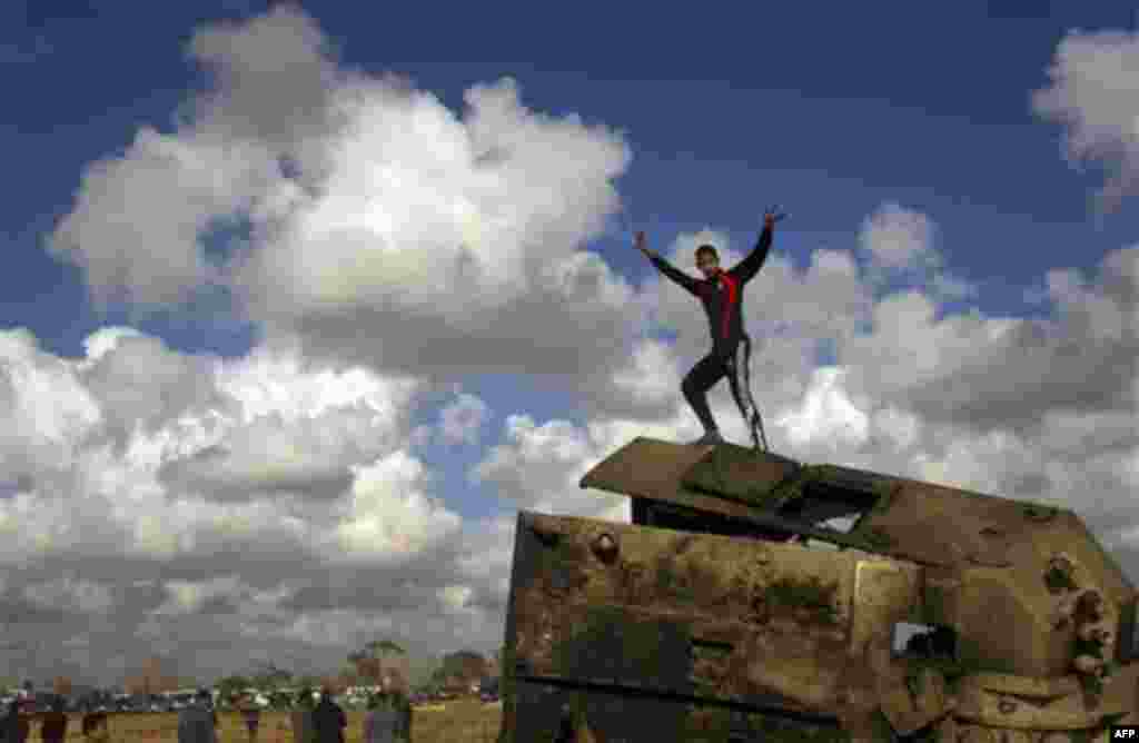
<svg viewBox="0 0 1139 743"><path fill-rule="evenodd" d="M208 87L172 131L89 166L48 243L97 299L146 310L224 288L305 356L388 370L620 364L632 292L584 247L621 207L621 133L532 111L508 77L451 111L339 65L290 6L199 28L188 54Z"/></svg>

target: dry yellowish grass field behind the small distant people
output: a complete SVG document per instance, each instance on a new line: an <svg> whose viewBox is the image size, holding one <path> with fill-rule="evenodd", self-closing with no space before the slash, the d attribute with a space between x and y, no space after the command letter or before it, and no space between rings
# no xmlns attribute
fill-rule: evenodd
<svg viewBox="0 0 1139 743"><path fill-rule="evenodd" d="M344 743L361 743L362 710L345 710L349 726ZM493 743L498 737L502 708L475 700L448 702L442 709L417 709L411 722L412 743ZM108 715L112 743L178 743L178 715L129 712ZM82 743L82 716L72 715L67 724L67 742ZM247 743L245 722L237 712L219 712L219 743ZM40 724L32 724L27 743L41 743ZM293 743L287 711L270 711L261 716L257 743Z"/></svg>

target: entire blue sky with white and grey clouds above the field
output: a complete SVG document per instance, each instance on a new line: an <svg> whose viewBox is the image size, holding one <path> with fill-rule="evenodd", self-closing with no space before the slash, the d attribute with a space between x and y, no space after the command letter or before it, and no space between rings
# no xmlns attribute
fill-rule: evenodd
<svg viewBox="0 0 1139 743"><path fill-rule="evenodd" d="M492 651L517 511L628 519L581 474L699 434L630 227L691 271L773 202L773 448L1063 503L1139 578L1130 3L88 5L0 10L10 673Z"/></svg>

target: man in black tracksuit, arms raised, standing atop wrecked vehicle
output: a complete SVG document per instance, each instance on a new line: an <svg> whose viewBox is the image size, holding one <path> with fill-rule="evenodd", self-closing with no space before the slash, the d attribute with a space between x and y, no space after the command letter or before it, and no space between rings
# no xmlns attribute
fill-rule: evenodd
<svg viewBox="0 0 1139 743"><path fill-rule="evenodd" d="M760 418L755 400L752 399L749 379L752 340L744 332L741 308L744 286L763 267L771 250L775 224L781 218L782 215L776 214L773 210L768 211L763 215L763 231L760 232L755 248L727 271L720 268L720 255L715 247L711 245L697 247L696 268L704 275L703 279L694 278L671 266L656 251L646 247L645 232L637 232L637 250L644 253L657 270L697 297L708 318L712 351L693 367L680 385L685 399L704 426L704 436L694 443L723 443L720 428L712 417L712 409L708 408L707 392L720 379L728 377L736 407L744 416L744 425L751 430L752 442L756 449L761 442L767 449L763 421Z"/></svg>

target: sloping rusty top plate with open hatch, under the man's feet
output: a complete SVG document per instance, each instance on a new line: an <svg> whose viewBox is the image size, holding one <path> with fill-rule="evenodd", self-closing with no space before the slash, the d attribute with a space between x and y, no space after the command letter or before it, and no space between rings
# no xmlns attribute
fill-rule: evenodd
<svg viewBox="0 0 1139 743"><path fill-rule="evenodd" d="M778 499L796 479L804 483L798 490L809 496L800 498L809 501L801 512L788 511L797 504ZM841 499L874 496L880 505L861 517L847 539L835 544L926 565L1008 568L1025 545L1047 544L1055 550L1057 544L1073 540L1083 545L1081 561L1105 573L1105 588L1113 598L1122 601L1133 590L1118 565L1068 511L850 467L804 467L731 444L694 447L638 438L587 473L581 487L677 503L756 525L785 528L789 521L803 525L804 534L818 528L819 521L842 513ZM828 538L822 532L810 536Z"/></svg>

